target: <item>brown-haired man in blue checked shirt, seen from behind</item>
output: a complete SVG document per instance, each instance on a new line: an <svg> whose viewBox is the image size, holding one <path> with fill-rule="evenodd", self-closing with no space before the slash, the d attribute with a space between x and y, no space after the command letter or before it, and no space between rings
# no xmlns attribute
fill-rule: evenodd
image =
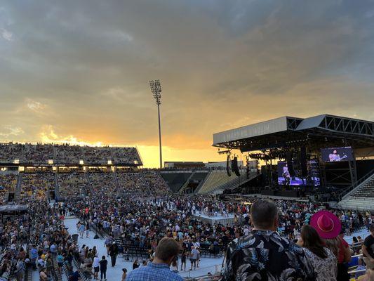
<svg viewBox="0 0 374 281"><path fill-rule="evenodd" d="M163 237L156 247L153 261L131 271L126 281L182 281L180 275L170 270L171 262L179 250L179 245L173 238Z"/></svg>

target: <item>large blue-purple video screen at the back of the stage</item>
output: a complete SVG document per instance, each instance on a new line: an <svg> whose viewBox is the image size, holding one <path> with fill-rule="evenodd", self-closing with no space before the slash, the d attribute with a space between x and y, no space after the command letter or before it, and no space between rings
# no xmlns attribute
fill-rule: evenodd
<svg viewBox="0 0 374 281"><path fill-rule="evenodd" d="M295 170L295 176L288 171L287 162L278 162L278 184L279 185L320 185L319 169L316 160L308 162L308 176L301 178L300 171Z"/></svg>

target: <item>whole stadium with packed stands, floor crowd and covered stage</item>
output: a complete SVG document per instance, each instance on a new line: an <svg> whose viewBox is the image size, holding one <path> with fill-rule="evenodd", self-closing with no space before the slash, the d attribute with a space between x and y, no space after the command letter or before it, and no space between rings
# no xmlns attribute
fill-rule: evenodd
<svg viewBox="0 0 374 281"><path fill-rule="evenodd" d="M186 280L215 280L229 242L248 234L251 204L271 198L281 210L277 230L291 239L321 209L343 218L349 271L364 271L354 269L362 256L356 237L368 235L374 211L374 122L281 117L214 133L213 146L226 162L168 162L160 170L142 169L135 147L1 143L2 221L5 233L18 232L16 239L3 235L2 246L25 247L25 280L36 278L36 268L53 280L66 280L76 268L90 280L93 256L106 253L136 268L162 237L173 237L181 257L175 270ZM245 154L246 164L235 153ZM64 250L55 235L76 248ZM197 265L186 262L192 249ZM114 267L107 279L119 275Z"/></svg>

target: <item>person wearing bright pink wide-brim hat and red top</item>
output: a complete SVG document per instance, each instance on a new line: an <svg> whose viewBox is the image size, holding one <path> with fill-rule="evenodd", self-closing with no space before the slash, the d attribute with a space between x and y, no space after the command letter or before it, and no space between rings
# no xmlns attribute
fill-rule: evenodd
<svg viewBox="0 0 374 281"><path fill-rule="evenodd" d="M330 211L318 211L310 220L310 226L316 230L326 247L328 247L338 259L339 281L349 281L347 263L351 260L349 245L340 237L342 225L340 219Z"/></svg>

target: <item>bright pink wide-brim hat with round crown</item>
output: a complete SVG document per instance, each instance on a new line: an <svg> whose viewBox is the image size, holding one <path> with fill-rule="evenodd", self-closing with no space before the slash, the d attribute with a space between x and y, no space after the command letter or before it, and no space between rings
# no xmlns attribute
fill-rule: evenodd
<svg viewBox="0 0 374 281"><path fill-rule="evenodd" d="M330 211L317 211L310 219L310 226L314 228L323 239L338 237L342 224L337 216Z"/></svg>

